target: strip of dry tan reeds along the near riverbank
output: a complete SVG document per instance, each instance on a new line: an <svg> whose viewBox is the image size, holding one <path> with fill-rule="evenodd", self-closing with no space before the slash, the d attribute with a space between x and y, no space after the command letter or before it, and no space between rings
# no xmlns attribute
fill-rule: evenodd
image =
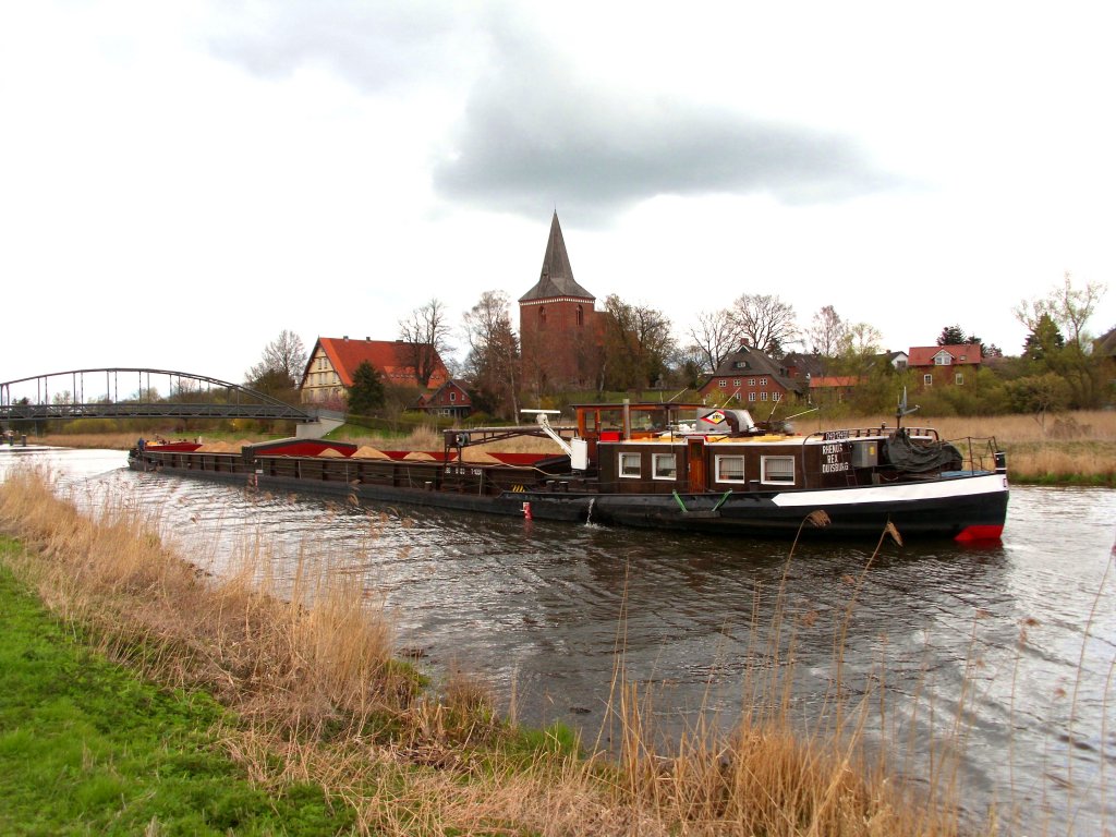
<svg viewBox="0 0 1116 837"><path fill-rule="evenodd" d="M137 507L108 500L87 518L45 474L17 471L0 485L0 530L29 547L19 569L44 600L106 653L233 709L239 720L220 734L254 781L273 792L319 782L362 834L959 833L949 799L906 795L864 758L864 713L835 699L826 732L796 732L787 675L756 681L758 701L731 734L698 730L663 758L650 696L625 679L620 651L618 760L525 757L477 679L417 690L355 574L300 561L282 600L264 545L242 545L235 571L206 577ZM781 608L775 618L767 656L790 658L793 627Z"/></svg>

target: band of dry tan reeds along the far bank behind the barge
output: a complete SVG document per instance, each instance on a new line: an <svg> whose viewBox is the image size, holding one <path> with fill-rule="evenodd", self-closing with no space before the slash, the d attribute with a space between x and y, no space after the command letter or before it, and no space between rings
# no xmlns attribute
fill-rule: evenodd
<svg viewBox="0 0 1116 837"><path fill-rule="evenodd" d="M799 433L812 433L848 426L874 427L881 424L894 425L894 416L872 416L819 422L809 416L796 422ZM934 419L913 414L904 420L905 426L936 427L943 439L964 440L968 437L995 437L1008 454L1008 477L1013 483L1041 485L1098 485L1116 488L1116 411L1075 411L1035 415L998 415L987 417L947 416ZM135 433L55 433L29 439L36 444L65 448L104 448L128 450L135 444ZM167 439L194 437L202 433L208 440L252 442L273 439L272 434L233 429L227 432L187 431L184 434L173 429L163 431ZM407 435L385 437L357 425L345 425L330 434L331 439L343 439L357 444L397 450L435 450L442 446L442 436L433 426L422 426ZM499 451L551 451L558 452L552 442L545 439L522 439L494 444Z"/></svg>

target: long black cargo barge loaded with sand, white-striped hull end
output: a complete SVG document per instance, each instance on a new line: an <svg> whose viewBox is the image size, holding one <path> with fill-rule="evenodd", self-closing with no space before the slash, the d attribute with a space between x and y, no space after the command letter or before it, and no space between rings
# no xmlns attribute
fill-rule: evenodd
<svg viewBox="0 0 1116 837"><path fill-rule="evenodd" d="M758 537L998 539L1008 507L994 440L951 443L924 427L797 435L744 410L680 404L576 405L576 426L445 431L441 451L281 440L213 450L143 445L132 468L540 520L593 521ZM548 435L560 454L489 453ZM824 514L814 514L824 512ZM824 526L802 527L804 520Z"/></svg>

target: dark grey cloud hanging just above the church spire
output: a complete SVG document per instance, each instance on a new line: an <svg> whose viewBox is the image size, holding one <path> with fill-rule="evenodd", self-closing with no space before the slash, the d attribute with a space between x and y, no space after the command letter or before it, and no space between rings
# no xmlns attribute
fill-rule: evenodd
<svg viewBox="0 0 1116 837"><path fill-rule="evenodd" d="M895 185L838 134L585 86L496 84L474 95L456 141L435 167L436 189L531 217L551 201L607 215L656 195L816 203Z"/></svg>

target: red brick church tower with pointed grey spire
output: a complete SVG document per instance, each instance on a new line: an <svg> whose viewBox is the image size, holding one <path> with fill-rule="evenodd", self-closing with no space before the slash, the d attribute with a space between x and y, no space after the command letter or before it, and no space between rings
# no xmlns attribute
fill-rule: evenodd
<svg viewBox="0 0 1116 837"><path fill-rule="evenodd" d="M574 280L555 212L539 281L519 298L525 383L537 392L593 384L599 346L595 301Z"/></svg>

